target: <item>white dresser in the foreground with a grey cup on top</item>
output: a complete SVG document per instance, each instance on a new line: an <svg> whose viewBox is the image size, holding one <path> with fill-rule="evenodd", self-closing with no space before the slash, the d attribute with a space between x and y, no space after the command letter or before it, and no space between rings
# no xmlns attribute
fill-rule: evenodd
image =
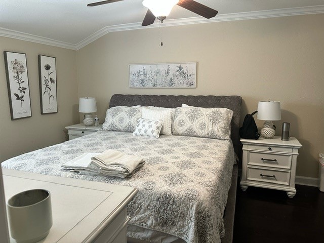
<svg viewBox="0 0 324 243"><path fill-rule="evenodd" d="M40 242L126 243L126 207L137 189L9 169L3 179L6 200L29 189L50 191L53 226Z"/></svg>

